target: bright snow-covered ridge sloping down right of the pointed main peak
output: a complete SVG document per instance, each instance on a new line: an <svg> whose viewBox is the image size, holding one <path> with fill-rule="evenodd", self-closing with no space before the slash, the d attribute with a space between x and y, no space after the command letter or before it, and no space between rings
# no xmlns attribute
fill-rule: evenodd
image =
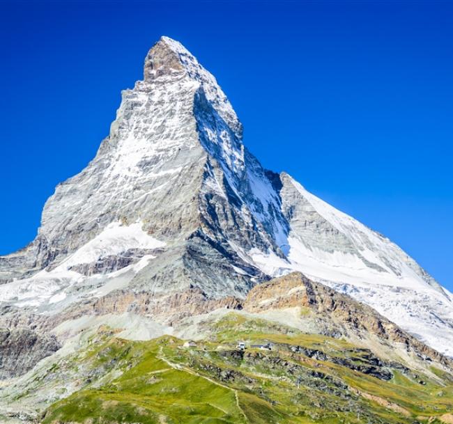
<svg viewBox="0 0 453 424"><path fill-rule="evenodd" d="M281 175L288 254L254 251L266 274L299 270L373 306L390 320L453 355L453 296L396 244Z"/></svg>

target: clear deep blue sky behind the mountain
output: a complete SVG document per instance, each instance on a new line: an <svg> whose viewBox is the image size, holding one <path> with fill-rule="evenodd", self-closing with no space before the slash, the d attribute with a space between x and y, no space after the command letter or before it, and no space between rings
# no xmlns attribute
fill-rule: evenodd
<svg viewBox="0 0 453 424"><path fill-rule="evenodd" d="M109 132L162 35L229 95L245 144L453 290L453 3L0 3L0 253Z"/></svg>

